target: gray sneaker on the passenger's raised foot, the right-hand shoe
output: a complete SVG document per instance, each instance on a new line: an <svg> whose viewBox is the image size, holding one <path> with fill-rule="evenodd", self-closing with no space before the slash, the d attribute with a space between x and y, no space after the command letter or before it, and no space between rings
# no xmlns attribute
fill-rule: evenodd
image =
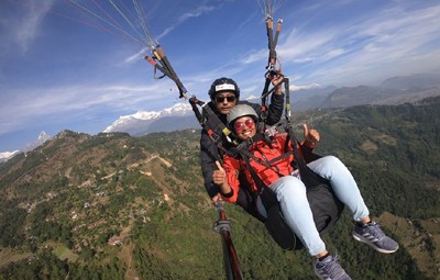
<svg viewBox="0 0 440 280"><path fill-rule="evenodd" d="M358 242L366 243L381 253L391 254L398 249L398 244L386 236L375 222L370 222L363 226L356 223L352 236Z"/></svg>

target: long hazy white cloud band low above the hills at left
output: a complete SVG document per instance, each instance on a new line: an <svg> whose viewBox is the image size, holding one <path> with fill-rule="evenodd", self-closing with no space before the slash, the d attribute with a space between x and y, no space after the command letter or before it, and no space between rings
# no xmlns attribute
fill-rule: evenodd
<svg viewBox="0 0 440 280"><path fill-rule="evenodd" d="M110 87L78 86L51 89L22 89L2 98L0 107L0 134L29 123L33 119L85 112L86 110L134 110L139 104L147 104L164 99L169 93L168 82L153 86L128 87L114 85ZM169 99L169 97L165 97ZM7 121L9 120L9 121Z"/></svg>

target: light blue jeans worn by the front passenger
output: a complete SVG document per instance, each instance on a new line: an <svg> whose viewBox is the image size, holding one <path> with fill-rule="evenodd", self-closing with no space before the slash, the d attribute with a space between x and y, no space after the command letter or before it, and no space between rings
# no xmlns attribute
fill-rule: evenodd
<svg viewBox="0 0 440 280"><path fill-rule="evenodd" d="M308 167L330 181L336 195L353 214L354 221L361 221L370 215L353 176L341 160L334 156L327 156L308 164ZM276 193L286 223L299 237L309 254L316 256L326 250L326 244L319 236L314 222L306 187L298 178L298 172L294 171L292 176L279 178L270 187ZM260 206L260 212L265 216L266 211Z"/></svg>

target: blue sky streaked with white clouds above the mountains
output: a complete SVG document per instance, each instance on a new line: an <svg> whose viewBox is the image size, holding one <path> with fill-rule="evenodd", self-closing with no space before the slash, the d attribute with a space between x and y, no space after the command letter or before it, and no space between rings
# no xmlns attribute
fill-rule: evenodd
<svg viewBox="0 0 440 280"><path fill-rule="evenodd" d="M116 18L109 1L75 0ZM113 2L119 2L113 0ZM144 0L151 34L186 88L201 100L213 79L235 79L243 97L261 94L267 37L257 0ZM135 11L131 1L128 9ZM438 0L276 0L277 45L294 86L377 86L440 71ZM178 99L154 79L143 45L62 0L0 2L0 152L22 148L41 131L96 134L121 115L158 111ZM133 13L129 18L139 26ZM295 104L295 97L292 98Z"/></svg>

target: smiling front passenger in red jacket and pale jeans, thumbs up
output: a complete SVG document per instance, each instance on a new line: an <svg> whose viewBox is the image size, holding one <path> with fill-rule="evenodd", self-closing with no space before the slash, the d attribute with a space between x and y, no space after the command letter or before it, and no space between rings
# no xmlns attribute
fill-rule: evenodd
<svg viewBox="0 0 440 280"><path fill-rule="evenodd" d="M242 142L256 134L257 115L249 105L237 105L228 114L228 123ZM309 130L304 124L305 145L315 148L320 135L316 130ZM286 223L302 242L311 256L317 258L315 272L321 279L350 279L346 272L326 249L326 244L316 228L312 212L306 195L306 187L299 178L298 170L294 170L290 163L294 156L279 157L285 153L285 135L275 135L268 143L265 139L250 142L249 150L253 154L250 165L261 180L276 194ZM290 145L287 145L290 147ZM278 158L279 157L279 158ZM277 159L278 158L278 159ZM253 190L257 187L245 163L240 158L226 156L223 166L216 163L218 170L213 172L213 182L220 186L223 200L233 203L240 190L239 173L244 172ZM352 232L354 239L372 246L374 249L389 254L398 249L398 244L386 236L380 225L370 219L358 184L344 166L334 156L326 156L308 164L316 173L328 179L338 199L351 211L355 227ZM266 216L264 205L257 203L258 212Z"/></svg>

